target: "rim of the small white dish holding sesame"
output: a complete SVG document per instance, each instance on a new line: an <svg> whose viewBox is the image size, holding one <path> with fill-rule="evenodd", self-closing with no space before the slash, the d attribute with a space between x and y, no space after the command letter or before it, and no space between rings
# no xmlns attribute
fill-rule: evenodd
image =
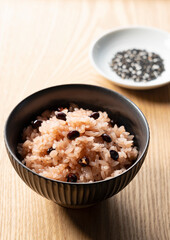
<svg viewBox="0 0 170 240"><path fill-rule="evenodd" d="M104 31L103 33L101 33L100 35L98 35L90 44L90 48L89 48L89 59L91 62L91 65L94 67L94 69L104 78L106 78L107 80L111 81L113 84L122 87L122 88L127 88L127 89L134 89L134 90L150 90L150 89L154 89L154 88L158 88L158 87L162 87L164 85L167 85L170 83L170 80L166 79L166 81L163 82L158 82L155 83L154 80L153 81L149 81L147 82L147 85L141 82L133 82L132 84L129 83L121 83L119 82L119 80L115 80L114 78L109 77L103 70L101 70L101 68L98 66L98 64L96 63L96 61L94 60L94 48L96 46L96 44L103 38L105 38L107 35L110 34L114 34L116 32L119 31L127 31L127 30L149 30L149 31L154 31L154 32L158 32L160 34L166 34L169 35L170 37L170 32L160 29L160 28L156 28L156 27L152 27L152 26L144 26L144 25L125 25L122 27L115 27L115 28L110 28L107 29L106 31ZM162 76L160 76L162 77ZM117 78L119 79L119 76L117 76ZM155 79L156 80L156 79Z"/></svg>

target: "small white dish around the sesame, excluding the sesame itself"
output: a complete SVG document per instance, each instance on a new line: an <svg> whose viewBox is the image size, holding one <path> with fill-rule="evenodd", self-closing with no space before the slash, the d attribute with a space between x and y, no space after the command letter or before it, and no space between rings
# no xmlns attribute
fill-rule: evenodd
<svg viewBox="0 0 170 240"><path fill-rule="evenodd" d="M110 67L117 52L128 49L145 49L160 55L165 71L155 80L135 82L122 79ZM96 70L113 83L131 89L151 89L170 83L170 33L149 27L125 27L106 32L90 49L90 58Z"/></svg>

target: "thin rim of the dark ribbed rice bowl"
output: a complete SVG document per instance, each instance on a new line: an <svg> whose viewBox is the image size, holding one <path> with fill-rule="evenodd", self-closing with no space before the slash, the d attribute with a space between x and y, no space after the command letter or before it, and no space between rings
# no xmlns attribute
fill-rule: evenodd
<svg viewBox="0 0 170 240"><path fill-rule="evenodd" d="M37 95L41 95L42 93L45 93L46 91L51 91L52 89L56 89L56 88L72 88L72 87L86 87L86 88L91 88L91 89L96 89L96 90L100 90L100 91L105 91L105 92L109 92L110 94L115 94L117 95L119 98L123 98L125 101L127 101L129 104L131 104L140 114L140 116L142 117L144 123L145 123L145 127L146 127L146 136L147 136L147 139L146 139L146 143L145 143L145 147L144 147L144 150L142 151L141 153L141 156L139 157L139 159L137 159L135 161L135 163L133 163L126 171L124 171L123 173L115 176L115 177L109 177L107 179L104 179L104 180L99 180L99 181L96 181L96 182L65 182L65 181L60 181L60 180L55 180L55 179L51 179L51 178L47 178L47 177L44 177L44 176L41 176L40 174L32 171L30 168L26 167L22 162L21 160L19 160L15 154L13 153L13 151L11 150L9 144L8 144L8 139L7 139L7 126L8 126L8 123L10 121L10 118L11 116L13 115L13 113L19 108L20 105L22 105L23 103L25 103L26 101L30 100L32 97L35 97ZM114 90L111 90L111 89L108 89L108 88L105 88L105 87L101 87L101 86L96 86L96 85L92 85L92 84L77 84L77 83L73 83L73 84L61 84L61 85L55 85L55 86L52 86L52 87L47 87L47 88L43 88L39 91L36 91L32 94L30 94L29 96L27 96L26 98L24 98L22 101L20 101L10 112L10 114L8 115L8 118L5 122L5 127L4 127L4 142L5 142L5 145L6 145L6 148L7 148L7 151L9 151L10 155L12 156L12 158L17 162L19 163L23 168L25 168L27 171L29 171L30 173L44 179L44 180L48 180L48 181L51 181L53 183L62 183L62 184L69 184L69 185L91 185L91 184L99 184L99 183L103 183L103 182L107 182L107 181L110 181L110 180L113 180L113 179L116 179L116 178L119 178L125 174L127 174L127 172L129 172L132 168L134 168L138 162L140 162L143 157L145 156L145 154L147 153L147 150L148 150L148 147L149 147L149 142L150 142L150 129L149 129L149 124L144 116L144 114L142 113L142 111L137 107L137 105L132 102L130 99L128 99L127 97L123 96L122 94L114 91Z"/></svg>

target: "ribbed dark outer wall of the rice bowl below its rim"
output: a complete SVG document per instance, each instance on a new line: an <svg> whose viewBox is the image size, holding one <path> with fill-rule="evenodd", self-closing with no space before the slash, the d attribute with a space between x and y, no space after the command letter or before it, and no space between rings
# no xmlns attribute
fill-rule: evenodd
<svg viewBox="0 0 170 240"><path fill-rule="evenodd" d="M145 153L136 165L116 178L90 184L75 184L41 177L19 163L10 154L8 148L7 152L14 169L30 188L41 196L68 208L88 207L117 194L135 177L146 156Z"/></svg>

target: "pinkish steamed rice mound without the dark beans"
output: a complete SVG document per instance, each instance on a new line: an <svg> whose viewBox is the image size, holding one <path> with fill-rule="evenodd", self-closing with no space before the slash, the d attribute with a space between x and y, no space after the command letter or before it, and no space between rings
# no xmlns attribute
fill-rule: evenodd
<svg viewBox="0 0 170 240"><path fill-rule="evenodd" d="M38 128L29 125L23 130L18 152L22 162L34 172L61 181L69 181L68 175L73 174L77 182L92 182L121 174L137 158L134 136L124 126L111 125L106 112L99 111L95 119L89 117L91 110L65 108L65 121L57 119L60 111L45 111L37 117L42 121ZM67 136L72 130L80 133L74 140ZM109 135L112 141L104 141L102 134ZM111 150L118 153L117 160L111 157ZM80 164L84 158L89 160L86 166Z"/></svg>

